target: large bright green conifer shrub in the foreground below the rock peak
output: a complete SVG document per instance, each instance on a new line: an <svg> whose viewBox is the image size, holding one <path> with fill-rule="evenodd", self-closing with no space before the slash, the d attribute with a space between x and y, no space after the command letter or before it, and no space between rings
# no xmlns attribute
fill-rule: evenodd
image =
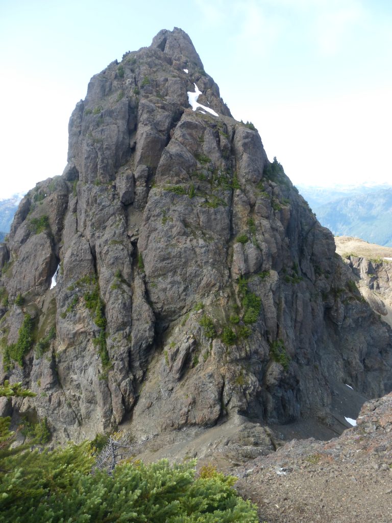
<svg viewBox="0 0 392 523"><path fill-rule="evenodd" d="M91 468L91 445L19 452L2 460L2 521L23 523L257 523L257 508L212 467L196 477L193 460L170 466L123 463Z"/></svg>

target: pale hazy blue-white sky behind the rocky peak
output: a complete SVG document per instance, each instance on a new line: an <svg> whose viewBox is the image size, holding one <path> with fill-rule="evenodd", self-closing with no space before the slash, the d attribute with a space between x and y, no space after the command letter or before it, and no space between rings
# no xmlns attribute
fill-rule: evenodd
<svg viewBox="0 0 392 523"><path fill-rule="evenodd" d="M0 198L61 174L90 77L175 26L294 184L392 182L390 0L0 0Z"/></svg>

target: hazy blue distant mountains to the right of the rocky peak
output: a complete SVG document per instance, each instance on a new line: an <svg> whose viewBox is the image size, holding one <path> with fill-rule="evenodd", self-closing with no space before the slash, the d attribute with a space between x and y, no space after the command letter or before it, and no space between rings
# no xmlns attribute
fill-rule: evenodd
<svg viewBox="0 0 392 523"><path fill-rule="evenodd" d="M309 187L299 192L335 236L392 247L392 186Z"/></svg>

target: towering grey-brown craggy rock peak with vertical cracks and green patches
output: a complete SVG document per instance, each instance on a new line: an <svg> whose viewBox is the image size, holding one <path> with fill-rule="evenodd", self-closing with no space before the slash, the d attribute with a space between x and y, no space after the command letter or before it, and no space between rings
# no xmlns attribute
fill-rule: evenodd
<svg viewBox="0 0 392 523"><path fill-rule="evenodd" d="M177 28L91 79L64 173L21 201L0 261L0 380L37 392L14 413L59 441L329 424L344 383L391 390L389 326Z"/></svg>

